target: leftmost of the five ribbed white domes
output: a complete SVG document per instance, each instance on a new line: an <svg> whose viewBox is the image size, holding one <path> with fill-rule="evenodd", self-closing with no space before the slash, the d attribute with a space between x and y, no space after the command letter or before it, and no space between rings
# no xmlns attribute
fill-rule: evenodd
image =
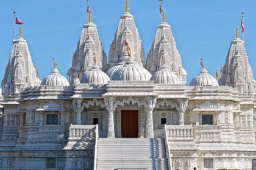
<svg viewBox="0 0 256 170"><path fill-rule="evenodd" d="M54 68L51 75L48 75L46 78L44 78L44 80L41 82L41 85L48 87L65 87L69 86L69 83L65 77L60 75L59 70Z"/></svg>

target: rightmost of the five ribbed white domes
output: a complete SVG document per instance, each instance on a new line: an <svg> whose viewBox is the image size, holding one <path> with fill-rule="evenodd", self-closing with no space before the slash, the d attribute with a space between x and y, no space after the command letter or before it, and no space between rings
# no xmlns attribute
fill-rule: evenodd
<svg viewBox="0 0 256 170"><path fill-rule="evenodd" d="M190 82L190 86L219 86L218 81L208 74L207 70L204 68L201 73L193 78Z"/></svg>

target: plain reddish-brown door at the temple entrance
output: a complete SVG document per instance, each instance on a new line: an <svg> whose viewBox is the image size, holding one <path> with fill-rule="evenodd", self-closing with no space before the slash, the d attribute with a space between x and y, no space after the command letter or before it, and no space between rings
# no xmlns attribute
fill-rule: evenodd
<svg viewBox="0 0 256 170"><path fill-rule="evenodd" d="M138 137L138 110L121 110L121 133L123 138Z"/></svg>

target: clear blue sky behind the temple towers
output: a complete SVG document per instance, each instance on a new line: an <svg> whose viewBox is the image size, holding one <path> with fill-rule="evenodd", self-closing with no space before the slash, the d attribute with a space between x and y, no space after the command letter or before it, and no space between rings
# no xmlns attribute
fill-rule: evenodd
<svg viewBox="0 0 256 170"><path fill-rule="evenodd" d="M93 22L98 25L108 55L119 16L123 13L123 0L91 0L90 4ZM212 75L224 65L230 41L235 38L236 25L240 28L243 10L247 55L256 74L255 7L255 0L163 0L166 20L187 70L188 83L199 73L200 58L204 58L205 67ZM0 0L0 79L4 77L12 48L13 10L24 22L23 37L41 78L51 72L51 58L57 60L60 73L66 75L86 21L86 1ZM130 13L135 16L147 55L160 22L158 0L130 0Z"/></svg>

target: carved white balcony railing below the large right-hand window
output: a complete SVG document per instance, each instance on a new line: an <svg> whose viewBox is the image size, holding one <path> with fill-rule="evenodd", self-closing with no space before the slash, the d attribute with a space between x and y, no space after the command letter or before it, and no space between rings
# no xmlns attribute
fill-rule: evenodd
<svg viewBox="0 0 256 170"><path fill-rule="evenodd" d="M221 126L218 125L199 125L194 126L196 141L219 141L221 140Z"/></svg>

